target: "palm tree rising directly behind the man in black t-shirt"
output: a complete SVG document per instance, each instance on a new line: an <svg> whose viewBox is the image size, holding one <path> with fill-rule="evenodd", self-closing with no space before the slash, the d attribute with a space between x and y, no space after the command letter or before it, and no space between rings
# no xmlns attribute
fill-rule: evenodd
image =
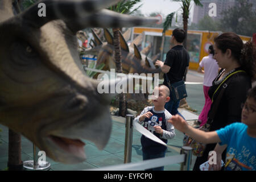
<svg viewBox="0 0 256 182"><path fill-rule="evenodd" d="M191 9L191 1L192 0L174 0L177 2L181 2L181 9L182 9L182 16L183 16L183 29L188 33L188 18L189 18L189 11ZM193 0L196 6L203 6L200 3L200 0ZM187 48L187 37L184 40L183 46Z"/></svg>

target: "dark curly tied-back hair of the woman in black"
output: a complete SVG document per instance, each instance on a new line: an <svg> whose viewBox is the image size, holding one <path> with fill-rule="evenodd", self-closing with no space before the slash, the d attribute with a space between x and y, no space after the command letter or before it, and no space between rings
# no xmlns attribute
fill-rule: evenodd
<svg viewBox="0 0 256 182"><path fill-rule="evenodd" d="M256 78L256 47L253 42L243 44L242 39L233 32L223 33L216 38L214 42L222 53L227 49L232 51L232 56L238 61L242 69L251 77Z"/></svg>

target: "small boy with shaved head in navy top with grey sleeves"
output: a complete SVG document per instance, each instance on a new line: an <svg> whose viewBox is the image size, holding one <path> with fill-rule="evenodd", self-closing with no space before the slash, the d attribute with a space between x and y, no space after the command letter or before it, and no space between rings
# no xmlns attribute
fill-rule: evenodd
<svg viewBox="0 0 256 182"><path fill-rule="evenodd" d="M159 96L153 100L154 106L144 108L142 113L134 121L143 123L143 126L148 131L156 135L164 143L167 143L167 139L175 137L174 126L167 122L172 115L164 109L166 102L170 101L170 90L165 85L159 85L155 89L158 89ZM141 137L141 145L143 160L163 158L166 154L166 146L154 142L144 135ZM158 167L148 170L163 171L163 169L164 167Z"/></svg>

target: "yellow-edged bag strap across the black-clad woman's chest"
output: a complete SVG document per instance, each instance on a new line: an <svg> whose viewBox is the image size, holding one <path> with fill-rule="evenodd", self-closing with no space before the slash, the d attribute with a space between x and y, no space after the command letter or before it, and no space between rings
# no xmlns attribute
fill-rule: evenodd
<svg viewBox="0 0 256 182"><path fill-rule="evenodd" d="M225 92L225 89L228 87L229 82L231 81L231 79L228 80L228 78L229 78L230 76L232 76L232 75L238 73L238 72L245 72L245 71L242 71L242 70L236 71L236 72L233 72L232 74L230 74L229 76L227 76L227 77L221 82L221 84L218 86L218 88L215 90L215 92L213 93L213 96L214 96L214 94L217 92L217 90L218 90L218 89L220 88L220 86L223 84L222 89L221 89L220 93L218 94L216 101L214 101L214 105L213 105L212 110L209 111L209 114L208 114L208 121L207 121L207 128L209 128L209 125L212 124L214 115L215 115L215 113L216 113L216 111L217 111L218 105L220 104L220 100L221 100L221 98L222 98L222 96L223 96L223 94L224 94L224 92ZM228 80L228 81L226 81L226 80ZM226 81L226 83L224 84L225 81ZM212 103L213 103L213 96L212 96Z"/></svg>

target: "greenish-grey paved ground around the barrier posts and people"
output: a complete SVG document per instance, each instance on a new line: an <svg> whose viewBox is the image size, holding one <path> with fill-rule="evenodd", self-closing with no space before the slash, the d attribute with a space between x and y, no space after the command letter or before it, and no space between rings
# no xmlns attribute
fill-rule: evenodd
<svg viewBox="0 0 256 182"><path fill-rule="evenodd" d="M189 71L187 75L187 81L203 82L203 75ZM204 105L204 94L203 85L187 85L188 105L193 109L197 110L197 113L203 108ZM100 168L104 166L110 166L114 164L123 163L123 155L125 148L125 125L123 124L123 118L112 117L113 127L110 140L104 150L100 151L94 145L94 143L85 140L85 152L87 159L85 162L80 164L61 164L54 162L47 158L47 161L51 163L51 170L81 170L90 168ZM0 125L0 170L7 167L8 159L8 128ZM133 150L131 162L142 161L142 150L140 142L141 134L137 131L133 133ZM166 156L179 155L180 147L182 143L183 134L176 130L176 137L168 140L168 145L172 146L172 149L168 149ZM33 156L32 143L26 138L22 137L22 160L32 160ZM192 161L194 162L195 157ZM180 164L172 164L165 166L164 170L180 170Z"/></svg>

